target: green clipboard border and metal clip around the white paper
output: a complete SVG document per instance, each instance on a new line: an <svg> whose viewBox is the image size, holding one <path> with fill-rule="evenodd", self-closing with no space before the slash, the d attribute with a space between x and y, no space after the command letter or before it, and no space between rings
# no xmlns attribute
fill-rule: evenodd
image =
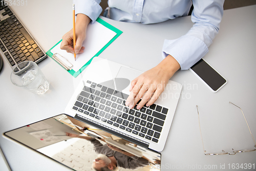
<svg viewBox="0 0 256 171"><path fill-rule="evenodd" d="M53 54L51 52L51 50L58 45L62 40L60 40L56 45L54 45L50 50L48 50L46 52L46 54L48 56L50 56L54 61L56 61L61 67L65 68L71 75L73 75L73 77L77 77L84 69L86 69L86 67L92 62L93 58L95 56L98 56L103 50L105 50L105 48L107 48L112 42L114 42L117 37L119 35L122 34L122 31L115 28L114 26L110 25L109 23L106 23L105 21L103 21L101 18L97 18L96 22L102 24L103 26L105 26L106 28L109 28L110 30L114 31L116 33L116 35L113 37L113 39L111 41L109 41L109 43L107 43L102 49L100 49L86 64L84 64L77 72L74 71L72 69L72 67L70 67L70 62L65 58L65 56L61 56L59 54ZM53 56L54 55L54 56ZM56 57L57 56L57 57ZM61 58L62 57L62 58ZM66 61L66 60L68 61ZM69 64L70 63L70 64ZM65 64L65 65L64 65ZM67 65L68 64L68 65ZM67 65L67 66L66 66ZM72 65L72 64L71 64Z"/></svg>

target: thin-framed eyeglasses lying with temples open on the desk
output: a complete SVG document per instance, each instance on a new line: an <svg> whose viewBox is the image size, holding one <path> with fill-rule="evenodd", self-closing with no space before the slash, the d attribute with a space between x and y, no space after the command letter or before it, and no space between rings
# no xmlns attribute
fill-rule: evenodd
<svg viewBox="0 0 256 171"><path fill-rule="evenodd" d="M229 103L231 103L231 102L229 102ZM237 106L237 105L235 105L235 104L233 104L233 103L231 103L231 104L234 105L234 106ZM239 106L237 106L237 107L240 108ZM240 109L241 109L241 108L240 108ZM243 112L242 109L241 109L241 111L242 111L243 116L244 116L244 112ZM199 122L200 135L201 135L201 139L202 139L202 143L203 143L203 149L204 149L204 142L203 142L203 138L202 138L202 132L201 132L201 126L200 126L200 119L199 119L198 106L197 106L197 113L198 113L198 122ZM248 126L248 128L249 128L250 134L251 134L251 129L250 129L249 125L248 125L248 122L247 122L245 116L244 116L244 119L245 119L245 122L246 122L246 124L247 124L247 126ZM254 140L252 134L251 134L251 137L252 137L252 140L254 141L254 147L256 148L256 143L255 143L255 140ZM256 149L234 150L234 149L232 148L232 150L233 150L233 154L227 153L227 152L225 152L224 150L222 150L222 153L206 153L206 150L204 149L204 155L227 155L227 154L228 154L228 155L235 155L235 154L237 154L237 153L255 151Z"/></svg>

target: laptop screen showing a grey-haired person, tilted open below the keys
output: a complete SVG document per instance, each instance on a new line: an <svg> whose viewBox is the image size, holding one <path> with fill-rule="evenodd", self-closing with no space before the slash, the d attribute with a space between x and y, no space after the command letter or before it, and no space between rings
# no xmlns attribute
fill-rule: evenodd
<svg viewBox="0 0 256 171"><path fill-rule="evenodd" d="M58 115L4 135L74 170L160 170L160 153L68 115Z"/></svg>

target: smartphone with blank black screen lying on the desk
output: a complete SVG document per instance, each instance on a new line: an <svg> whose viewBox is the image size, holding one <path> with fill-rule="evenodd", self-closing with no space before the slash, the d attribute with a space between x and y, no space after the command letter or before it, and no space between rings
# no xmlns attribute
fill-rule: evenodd
<svg viewBox="0 0 256 171"><path fill-rule="evenodd" d="M212 90L217 91L227 81L203 59L191 68Z"/></svg>

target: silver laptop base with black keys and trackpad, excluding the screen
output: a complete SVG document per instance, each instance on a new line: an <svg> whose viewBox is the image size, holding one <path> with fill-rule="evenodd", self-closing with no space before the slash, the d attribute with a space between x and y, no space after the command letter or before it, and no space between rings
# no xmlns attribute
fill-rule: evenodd
<svg viewBox="0 0 256 171"><path fill-rule="evenodd" d="M65 113L144 148L162 151L182 85L170 81L152 106L126 107L131 81L142 72L95 57L71 97Z"/></svg>

